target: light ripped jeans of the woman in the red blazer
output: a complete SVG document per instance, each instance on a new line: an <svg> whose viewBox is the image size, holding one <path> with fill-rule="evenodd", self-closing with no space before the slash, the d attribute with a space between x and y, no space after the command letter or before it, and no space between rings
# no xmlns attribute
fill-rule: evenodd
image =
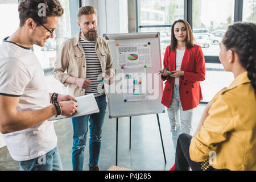
<svg viewBox="0 0 256 182"><path fill-rule="evenodd" d="M174 85L171 104L167 109L171 125L172 142L176 153L177 139L181 133L191 134L193 109L183 110L180 102L179 85Z"/></svg>

